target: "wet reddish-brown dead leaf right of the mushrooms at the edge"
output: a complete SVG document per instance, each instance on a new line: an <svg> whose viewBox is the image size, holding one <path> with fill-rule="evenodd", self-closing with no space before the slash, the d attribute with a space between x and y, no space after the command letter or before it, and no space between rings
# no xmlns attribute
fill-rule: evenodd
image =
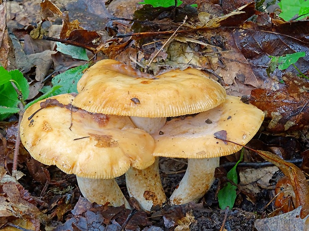
<svg viewBox="0 0 309 231"><path fill-rule="evenodd" d="M295 76L283 77L284 84L272 89L254 89L250 103L265 112L270 120L268 129L273 132L303 130L309 126L309 82Z"/></svg>

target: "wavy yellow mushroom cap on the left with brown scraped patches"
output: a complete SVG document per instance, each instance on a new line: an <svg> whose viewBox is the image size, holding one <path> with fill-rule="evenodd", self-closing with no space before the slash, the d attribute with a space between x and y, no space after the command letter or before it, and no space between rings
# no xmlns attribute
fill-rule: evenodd
<svg viewBox="0 0 309 231"><path fill-rule="evenodd" d="M39 111L47 101L33 104L20 124L22 144L41 163L80 177L111 179L130 166L144 169L154 162L153 138L135 128L129 117L75 108L71 94L48 99L58 103Z"/></svg>

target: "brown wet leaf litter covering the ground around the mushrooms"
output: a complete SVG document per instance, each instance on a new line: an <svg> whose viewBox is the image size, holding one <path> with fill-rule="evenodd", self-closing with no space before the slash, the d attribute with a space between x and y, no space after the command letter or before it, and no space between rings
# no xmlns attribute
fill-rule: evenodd
<svg viewBox="0 0 309 231"><path fill-rule="evenodd" d="M10 38L13 41L12 47L15 48L16 65L31 84L40 83L37 84L38 88L51 86L55 80L52 83L50 79L54 79L57 74L86 63L54 49L54 41L37 40L28 36L31 34L34 38L45 36L45 39L46 37L57 39L58 34L58 39L60 39L57 40L58 42L75 44L88 49L90 52L86 54L90 59L94 57L94 54L97 60L117 59L142 71L147 70L150 74L158 74L170 68L194 67L204 70L220 81L229 94L251 95L247 97L247 100L267 112L268 121L263 127L267 132L261 133L259 137L265 144L265 150L270 147L285 146L284 142L273 137L274 133L282 135L293 131L289 133L287 139L293 140L297 145L292 150L290 158L299 158L299 150L306 153L309 121L307 119L308 81L297 77L298 73L293 67L286 71L276 69L271 75L266 70L271 60L269 56L282 56L294 52L308 53L307 20L285 22L275 14L257 11L254 4L249 1L227 0L223 1L221 6L200 1L197 2L197 9L185 6L187 8L177 8L176 11L173 11L172 7L154 10L154 8L148 8L149 6L143 7L137 4L137 1L123 0L114 0L110 4L88 0L54 3L45 0L42 7L40 3L41 1L23 0L21 4L17 4L17 2L9 1L6 18L6 24L12 31ZM128 7L130 10L133 9L132 12L128 10ZM136 11L136 9L141 11ZM68 14L65 10L68 10ZM191 15L186 23L183 23L185 16L183 12L190 12ZM3 21L3 17L0 20ZM56 27L58 28L54 29ZM164 46L178 27L179 30L173 40ZM30 33L31 30L32 33ZM4 31L4 34L1 34L0 57L4 57L3 60L9 60L12 56L10 53L1 53L6 51L3 47L9 44L5 33ZM24 43L21 43L23 38L25 38ZM152 59L153 62L149 63ZM11 69L14 69L14 66L10 67L13 63L3 62ZM307 74L308 57L301 58L297 66ZM33 69L36 71L34 72ZM63 83L66 87L78 81L73 77L72 79L70 77L64 79L61 76L58 78L57 82ZM258 89L253 90L254 88ZM36 89L31 97L40 95L39 90ZM70 88L67 90L71 91ZM14 138L9 137L9 131L13 130L13 124L1 124L3 135L0 163L8 172L11 169L14 144ZM254 140L251 143L253 142ZM291 149L291 147L287 148ZM60 173L53 166L47 168L44 165L37 165L29 159L25 151L21 153L23 154L19 155L19 168L32 175L36 181L30 183L25 177L19 180L24 187L29 187L28 190L31 189L31 194L21 188L22 186L17 182L4 183L5 186L1 183L1 196L3 195L5 199L3 205L8 206L7 208L15 206L19 211L17 216L10 209L5 210L7 214L2 216L1 224L6 227L10 224L11 227L18 227L22 220L25 224L20 226L25 229L39 230L42 226L41 217L43 217L49 221L49 225L43 228L45 230L55 227L57 230L74 231L121 230L123 228L145 231L219 230L222 224L225 224L226 229L252 230L257 217L251 211L255 211L260 218L263 218L278 209L272 202L275 200L275 195L271 195L271 192L274 192L272 187L280 178L277 177L278 171L274 169L267 170L267 180L263 181L263 184L260 179L251 180L259 182L254 186L257 190L255 194L248 189L241 189L242 182L240 182L235 202L236 208L228 213L217 209L216 187L219 187L219 182L216 181L200 204L164 206L154 208L150 214L141 210L133 214L132 211L124 208L90 204L79 197L80 193L75 186L77 183L74 176ZM246 160L256 158L255 155L249 153ZM272 156L268 153L266 155ZM276 159L279 168L292 179L293 190L297 198L296 207L303 206L302 211L299 209L286 214L291 221L286 224L286 227L298 225L302 227L306 219L304 217L308 213L306 178L297 167L286 164L273 156L271 159ZM26 161L30 164L25 164ZM161 164L164 164L164 161L163 159ZM285 166L292 171L287 170ZM183 172L184 169L185 164L180 164L179 168L172 169L174 173L169 170L162 172L162 181L166 186L167 195L177 186L177 182L183 175L181 171ZM33 173L37 175L34 176ZM253 175L256 174L253 173ZM224 174L222 177L224 178ZM49 178L54 182L51 182ZM223 182L223 178L220 178L220 181ZM119 183L125 188L122 179L119 179ZM34 196L40 196L42 191L45 193L40 199ZM269 204L265 204L264 208L254 209L263 193L266 195L264 200ZM23 200L27 199L20 203L20 197ZM27 204L29 201L32 202L31 205ZM19 208L22 206L26 209ZM249 212L244 212L246 209ZM224 223L225 216L227 219ZM280 216L273 217L274 220L271 222L265 219L258 220L255 226L261 231L267 230L259 223L262 221L264 224L274 224L274 228L268 230L278 230L278 227L282 226L278 225L276 228L275 224L281 224L286 219ZM297 219L298 216L304 219Z"/></svg>

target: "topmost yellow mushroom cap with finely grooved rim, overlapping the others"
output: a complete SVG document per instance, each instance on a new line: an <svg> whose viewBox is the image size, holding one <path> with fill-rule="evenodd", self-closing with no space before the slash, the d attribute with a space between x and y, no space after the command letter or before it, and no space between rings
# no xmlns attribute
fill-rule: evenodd
<svg viewBox="0 0 309 231"><path fill-rule="evenodd" d="M225 100L224 88L188 68L151 77L115 60L97 62L77 84L73 105L90 112L139 117L198 113Z"/></svg>

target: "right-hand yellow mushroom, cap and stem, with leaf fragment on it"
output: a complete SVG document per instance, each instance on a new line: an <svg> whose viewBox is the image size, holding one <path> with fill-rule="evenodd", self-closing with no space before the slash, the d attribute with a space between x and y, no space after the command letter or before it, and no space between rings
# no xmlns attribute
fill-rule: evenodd
<svg viewBox="0 0 309 231"><path fill-rule="evenodd" d="M197 202L213 183L219 156L242 148L216 139L216 132L224 131L227 140L245 145L258 132L263 119L264 112L257 107L243 103L238 97L226 96L225 102L213 109L168 121L153 135L154 155L188 158L186 173L170 203Z"/></svg>

